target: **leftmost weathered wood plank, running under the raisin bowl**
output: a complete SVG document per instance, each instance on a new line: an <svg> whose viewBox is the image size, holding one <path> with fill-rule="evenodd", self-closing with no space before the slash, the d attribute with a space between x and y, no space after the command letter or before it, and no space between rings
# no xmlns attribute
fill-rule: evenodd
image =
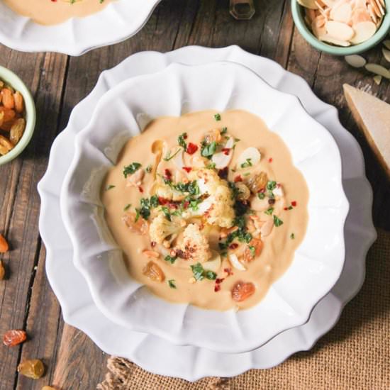
<svg viewBox="0 0 390 390"><path fill-rule="evenodd" d="M1 47L0 58L2 52L7 56L9 49ZM53 123L57 123L66 68L66 57L62 55L11 52L7 57L9 61L5 65L26 81L35 96L40 115L33 140L23 155L11 164L0 167L0 186L5 189L0 194L0 221L12 248L4 256L9 279L0 284L0 334L26 326L40 243L40 202L36 185L45 170L55 135L56 126ZM16 383L16 366L22 348L0 348L0 377L5 389L13 389Z"/></svg>

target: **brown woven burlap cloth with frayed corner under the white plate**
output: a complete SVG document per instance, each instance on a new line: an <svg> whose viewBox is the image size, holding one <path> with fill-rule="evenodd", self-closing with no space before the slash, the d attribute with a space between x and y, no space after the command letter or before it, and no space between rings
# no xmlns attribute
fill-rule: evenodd
<svg viewBox="0 0 390 390"><path fill-rule="evenodd" d="M231 379L195 383L144 371L111 357L101 390L389 390L390 389L390 233L379 238L367 257L362 290L340 321L309 352L299 352L272 369L252 369Z"/></svg>

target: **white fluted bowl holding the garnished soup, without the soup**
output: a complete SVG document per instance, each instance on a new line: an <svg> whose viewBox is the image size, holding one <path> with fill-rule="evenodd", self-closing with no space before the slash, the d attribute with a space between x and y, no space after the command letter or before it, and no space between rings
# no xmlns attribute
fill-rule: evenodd
<svg viewBox="0 0 390 390"><path fill-rule="evenodd" d="M308 227L293 262L264 299L245 311L169 303L130 279L100 200L105 174L128 139L143 131L145 118L152 121L210 108L221 113L241 108L260 116L289 146L310 193ZM73 243L75 265L87 279L96 305L120 325L179 345L246 352L305 323L313 306L340 277L348 203L338 147L296 96L269 87L243 65L172 64L161 72L128 79L104 94L75 145L62 186L62 218Z"/></svg>

